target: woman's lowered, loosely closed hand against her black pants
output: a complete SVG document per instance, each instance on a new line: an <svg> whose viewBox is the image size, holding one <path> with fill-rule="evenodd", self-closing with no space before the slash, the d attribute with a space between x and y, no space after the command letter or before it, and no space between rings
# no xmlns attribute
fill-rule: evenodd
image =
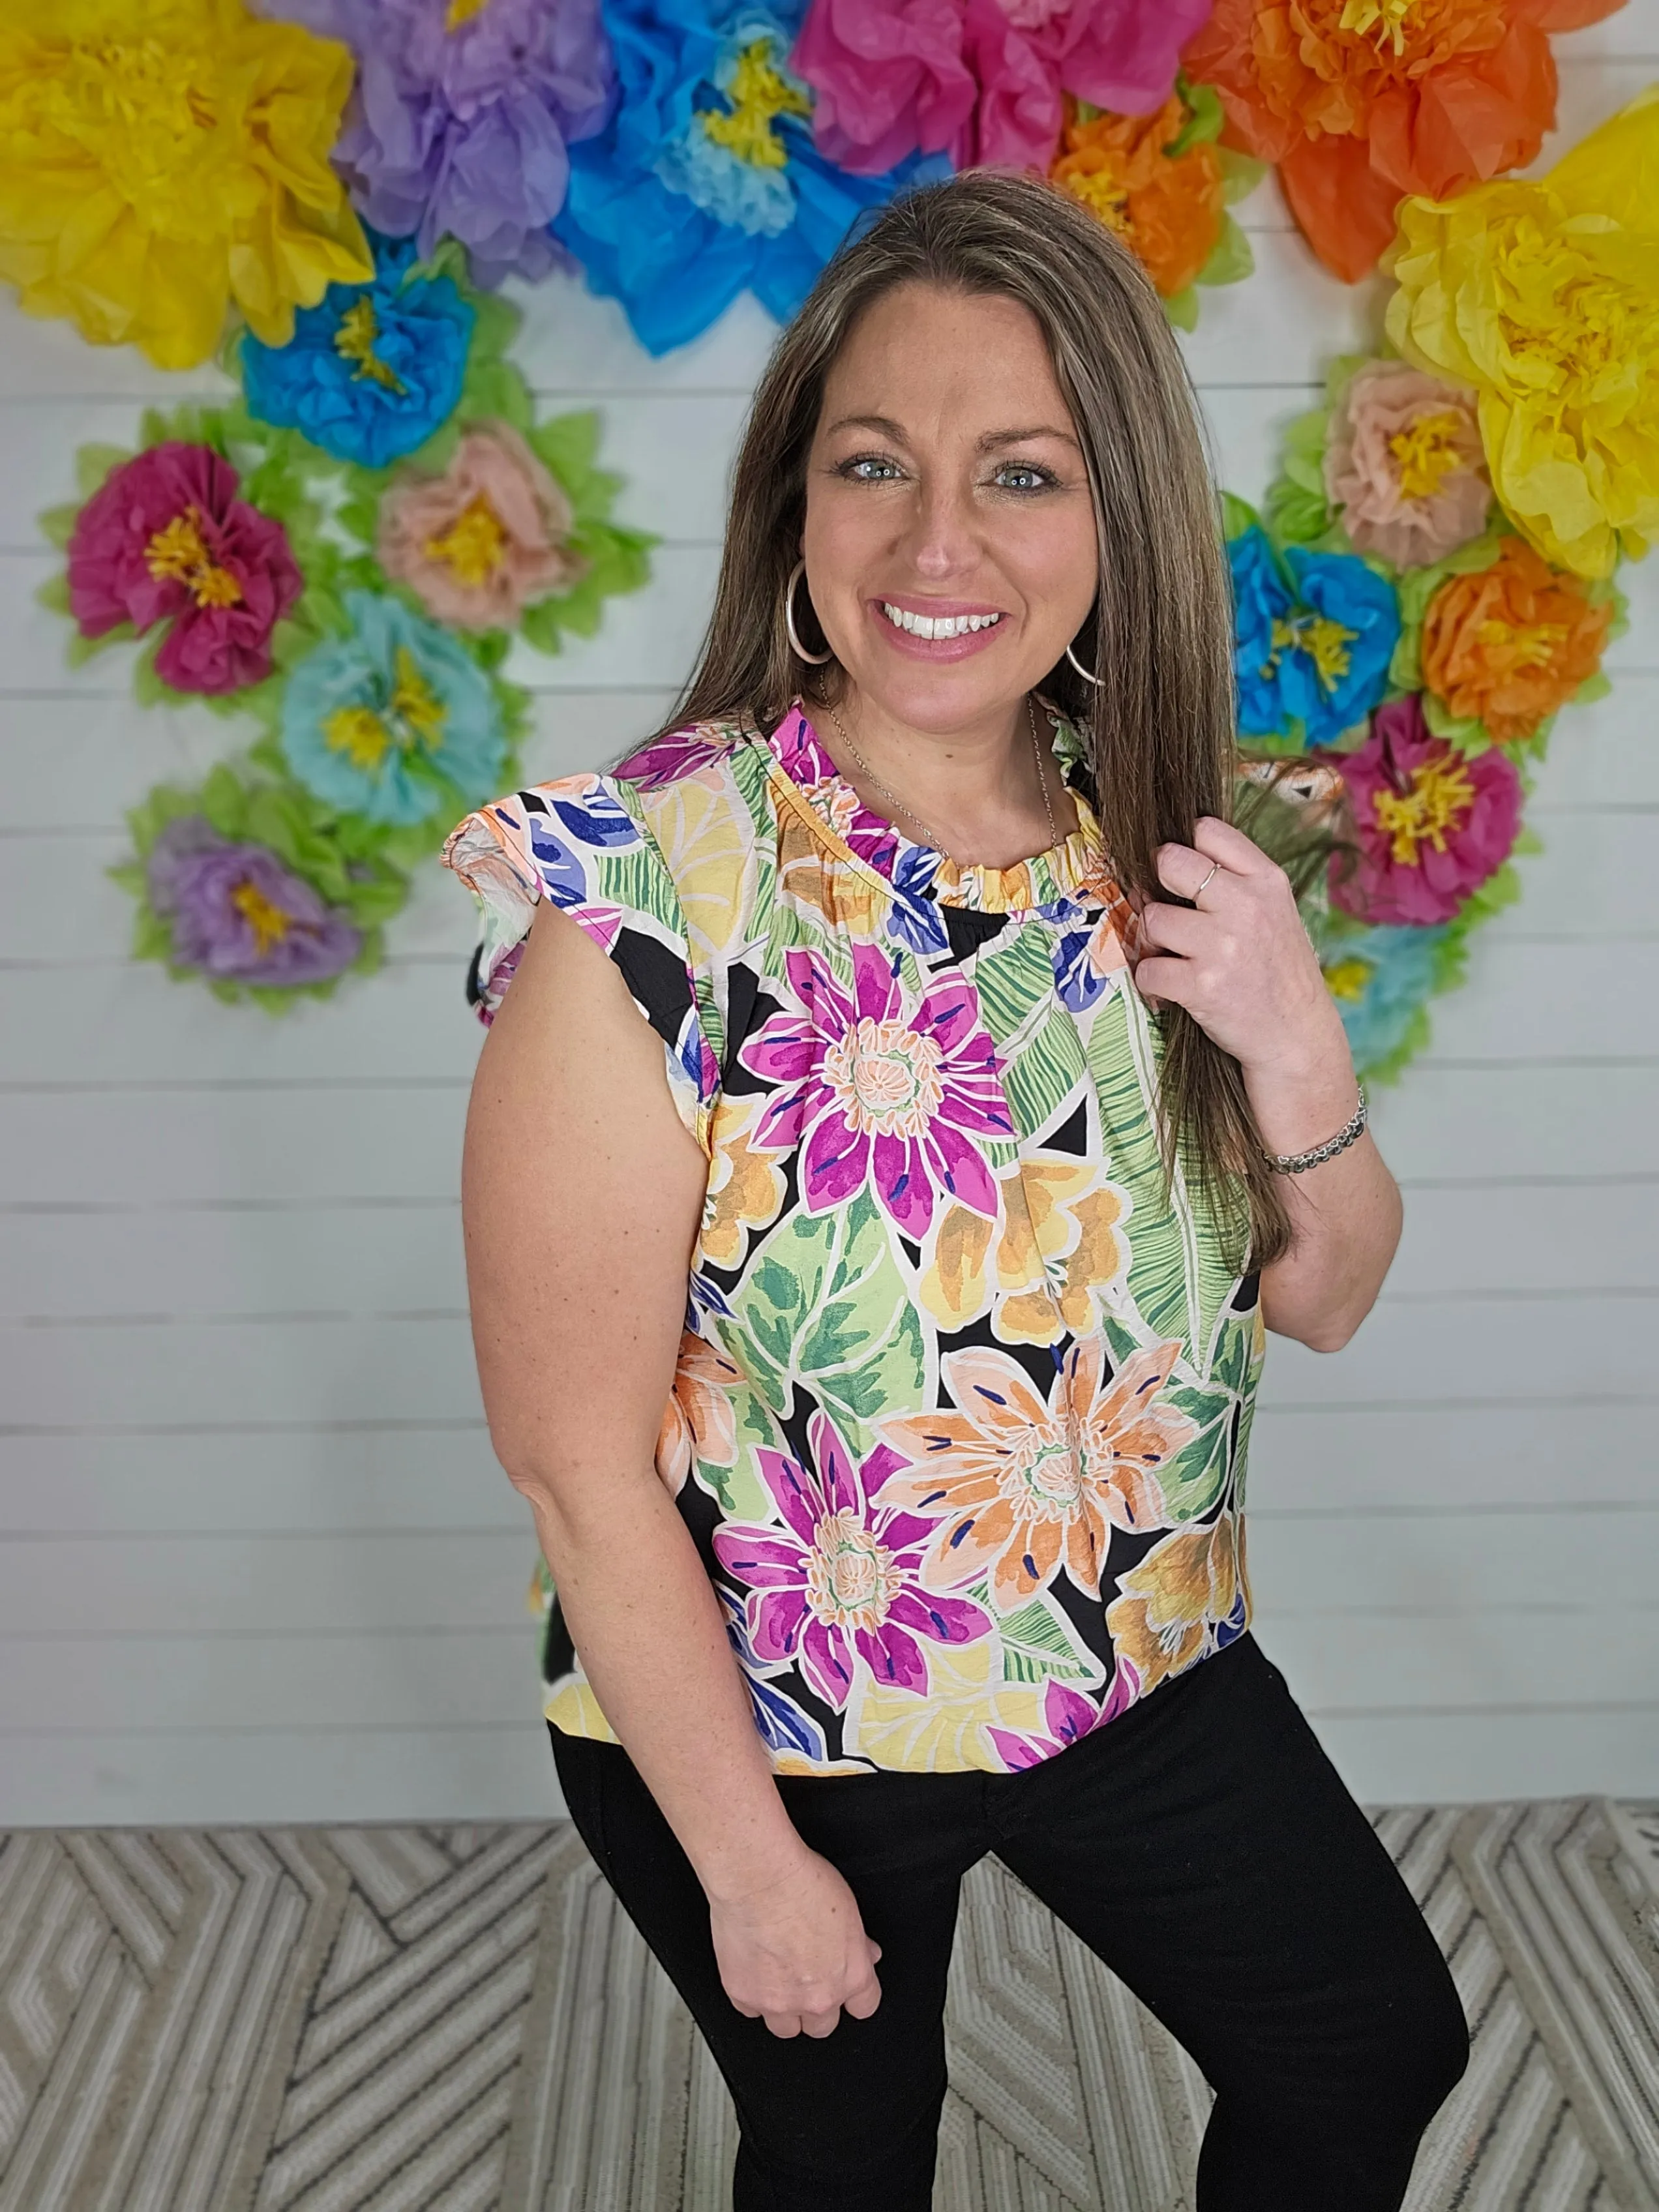
<svg viewBox="0 0 1659 2212"><path fill-rule="evenodd" d="M880 1944L818 1851L770 1882L710 1898L708 1920L726 1995L774 2035L830 2035L843 2013L867 2020L880 2004Z"/></svg>

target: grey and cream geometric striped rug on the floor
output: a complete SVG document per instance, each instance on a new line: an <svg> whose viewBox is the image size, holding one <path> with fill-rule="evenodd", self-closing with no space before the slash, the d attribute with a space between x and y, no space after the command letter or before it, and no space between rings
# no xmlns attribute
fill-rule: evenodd
<svg viewBox="0 0 1659 2212"><path fill-rule="evenodd" d="M1411 2212L1659 2212L1659 1807L1378 1825L1475 2024ZM1190 2208L1203 2081L991 1863L951 2081L940 2212ZM568 1825L0 1838L0 2212L719 2212L730 2161Z"/></svg>

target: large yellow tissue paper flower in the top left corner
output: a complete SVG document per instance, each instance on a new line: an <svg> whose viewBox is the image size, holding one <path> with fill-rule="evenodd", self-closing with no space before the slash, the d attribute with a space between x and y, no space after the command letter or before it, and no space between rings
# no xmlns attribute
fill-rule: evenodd
<svg viewBox="0 0 1659 2212"><path fill-rule="evenodd" d="M164 369L234 299L265 345L374 274L327 164L352 55L241 0L7 0L0 276L29 314Z"/></svg>

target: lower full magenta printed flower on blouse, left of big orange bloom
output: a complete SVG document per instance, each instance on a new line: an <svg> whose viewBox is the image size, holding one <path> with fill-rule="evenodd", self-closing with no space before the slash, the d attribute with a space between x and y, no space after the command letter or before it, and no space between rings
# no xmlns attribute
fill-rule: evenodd
<svg viewBox="0 0 1659 2212"><path fill-rule="evenodd" d="M854 1666L876 1681L927 1694L927 1657L916 1641L978 1644L991 1615L971 1597L940 1597L920 1584L933 1524L920 1513L872 1506L898 1467L885 1444L854 1464L823 1413L807 1425L818 1478L783 1451L757 1451L783 1526L726 1522L714 1557L748 1590L743 1617L754 1657L794 1659L825 1705L845 1712Z"/></svg>

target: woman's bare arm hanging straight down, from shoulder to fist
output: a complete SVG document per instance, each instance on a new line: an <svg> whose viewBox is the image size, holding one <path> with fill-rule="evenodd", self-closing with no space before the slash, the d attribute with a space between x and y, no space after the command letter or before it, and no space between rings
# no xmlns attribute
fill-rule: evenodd
<svg viewBox="0 0 1659 2212"><path fill-rule="evenodd" d="M776 2033L827 2035L838 2006L874 2011L878 1951L783 1809L714 1586L655 1471L706 1177L661 1037L575 922L538 909L462 1164L491 1442L604 1717L708 1891L728 1995Z"/></svg>

